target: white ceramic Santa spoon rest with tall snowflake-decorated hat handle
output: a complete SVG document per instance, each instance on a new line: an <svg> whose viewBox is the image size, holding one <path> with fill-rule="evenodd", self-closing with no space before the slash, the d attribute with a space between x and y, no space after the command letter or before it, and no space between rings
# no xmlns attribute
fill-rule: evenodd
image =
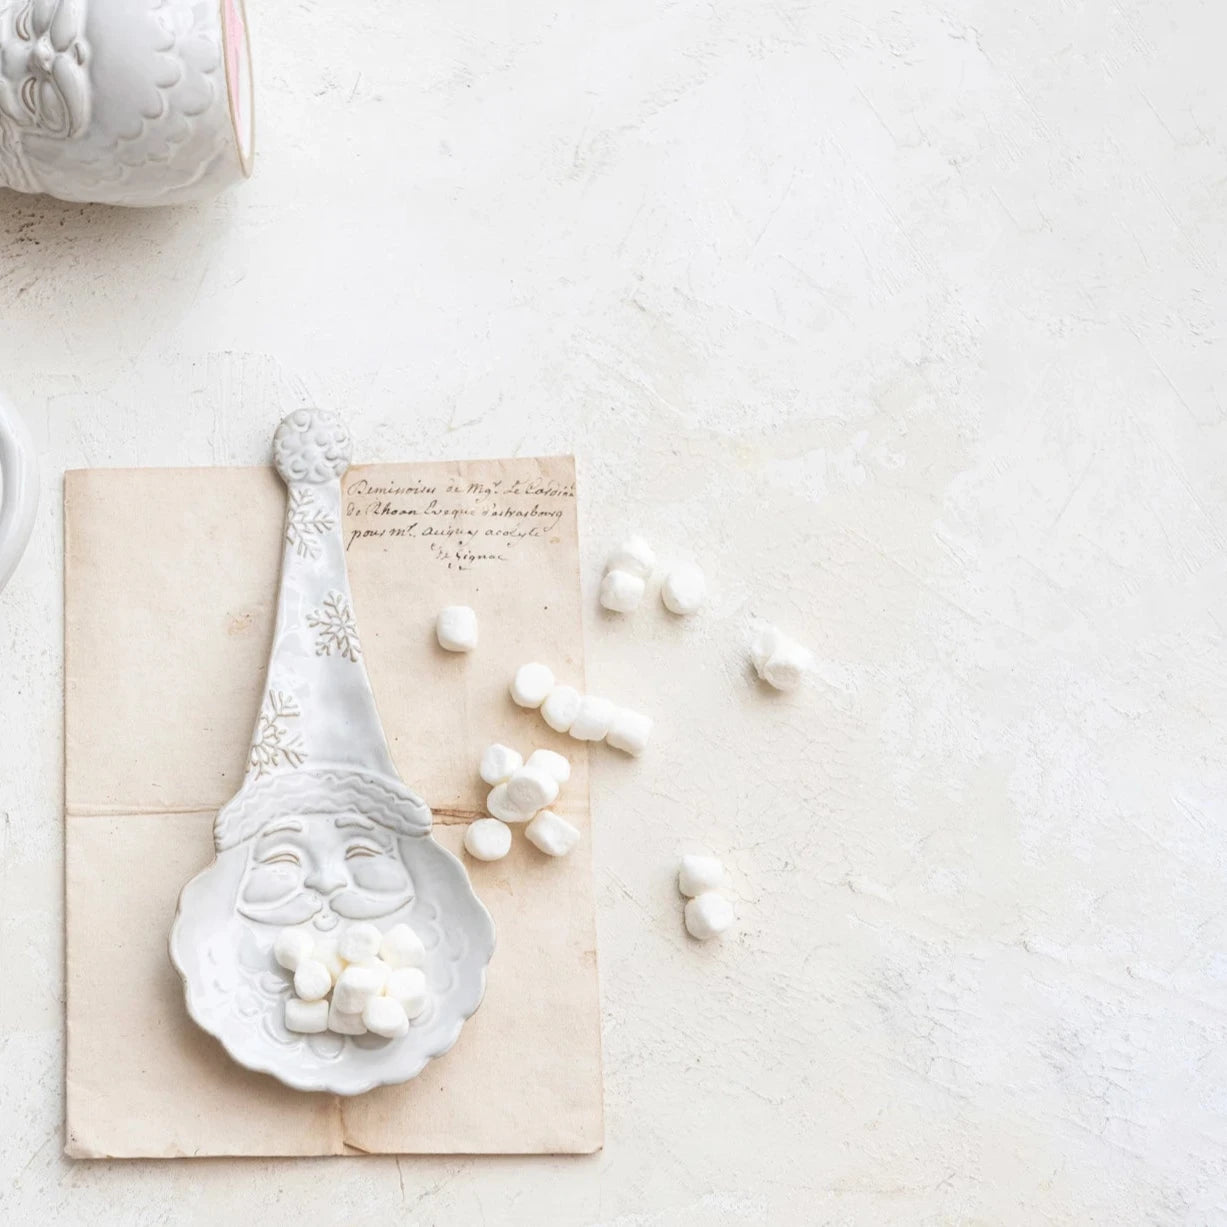
<svg viewBox="0 0 1227 1227"><path fill-rule="evenodd" d="M288 498L264 698L243 785L213 825L216 860L179 898L171 958L191 1017L239 1064L356 1094L413 1077L455 1043L481 1002L494 928L388 752L341 536L348 433L303 410L277 428L274 458ZM407 1033L287 1029L279 935L326 945L369 924L407 924L425 945L427 1005Z"/></svg>

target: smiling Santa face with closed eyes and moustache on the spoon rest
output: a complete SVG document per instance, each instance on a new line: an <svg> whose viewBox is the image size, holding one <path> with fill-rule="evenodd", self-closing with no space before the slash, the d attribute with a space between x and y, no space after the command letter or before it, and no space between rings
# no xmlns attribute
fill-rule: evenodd
<svg viewBox="0 0 1227 1227"><path fill-rule="evenodd" d="M355 814L274 818L248 842L238 912L265 925L336 928L388 917L413 898L393 832Z"/></svg>

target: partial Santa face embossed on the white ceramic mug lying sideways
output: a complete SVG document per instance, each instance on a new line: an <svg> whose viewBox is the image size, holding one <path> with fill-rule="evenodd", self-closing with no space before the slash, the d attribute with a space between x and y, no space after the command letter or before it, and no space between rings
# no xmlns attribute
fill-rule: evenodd
<svg viewBox="0 0 1227 1227"><path fill-rule="evenodd" d="M90 121L83 0L16 0L0 10L0 114L44 136Z"/></svg>

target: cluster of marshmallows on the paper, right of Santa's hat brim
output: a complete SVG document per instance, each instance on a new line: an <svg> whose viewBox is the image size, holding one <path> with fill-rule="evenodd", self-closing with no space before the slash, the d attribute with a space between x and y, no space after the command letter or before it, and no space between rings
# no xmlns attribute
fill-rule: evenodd
<svg viewBox="0 0 1227 1227"><path fill-rule="evenodd" d="M491 784L488 818L470 822L465 852L476 860L502 860L512 850L512 827L524 822L524 836L547 856L566 856L579 832L550 809L571 779L571 762L553 750L534 750L528 762L510 746L490 746L481 756L481 778Z"/></svg>

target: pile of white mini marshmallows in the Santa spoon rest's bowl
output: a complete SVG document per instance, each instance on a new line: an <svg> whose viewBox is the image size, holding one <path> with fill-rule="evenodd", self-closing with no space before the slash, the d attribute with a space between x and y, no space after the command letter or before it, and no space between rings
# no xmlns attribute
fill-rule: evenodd
<svg viewBox="0 0 1227 1227"><path fill-rule="evenodd" d="M272 956L294 978L286 1029L299 1034L371 1032L399 1039L429 1001L426 947L407 924L380 933L360 921L339 937L282 929Z"/></svg>

